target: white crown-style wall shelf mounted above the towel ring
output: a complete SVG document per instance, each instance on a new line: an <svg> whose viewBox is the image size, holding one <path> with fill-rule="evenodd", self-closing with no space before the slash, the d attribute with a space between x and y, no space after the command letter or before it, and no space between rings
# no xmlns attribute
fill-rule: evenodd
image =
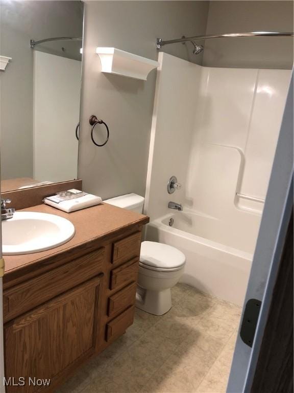
<svg viewBox="0 0 294 393"><path fill-rule="evenodd" d="M116 48L96 48L101 60L101 72L127 76L129 78L147 80L159 62Z"/></svg>

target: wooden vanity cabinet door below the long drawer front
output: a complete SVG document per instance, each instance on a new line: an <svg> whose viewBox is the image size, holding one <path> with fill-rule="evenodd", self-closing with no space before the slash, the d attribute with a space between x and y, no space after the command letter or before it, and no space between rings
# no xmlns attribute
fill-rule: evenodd
<svg viewBox="0 0 294 393"><path fill-rule="evenodd" d="M42 385L34 385L37 379L50 379L53 386L75 362L94 352L101 276L4 326L8 393L38 391ZM17 386L22 378L24 386Z"/></svg>

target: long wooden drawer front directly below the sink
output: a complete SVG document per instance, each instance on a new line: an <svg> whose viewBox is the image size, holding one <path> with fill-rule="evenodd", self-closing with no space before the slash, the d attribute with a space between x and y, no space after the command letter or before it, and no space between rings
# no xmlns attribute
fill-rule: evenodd
<svg viewBox="0 0 294 393"><path fill-rule="evenodd" d="M4 322L102 272L105 248L90 252L65 265L3 292Z"/></svg>

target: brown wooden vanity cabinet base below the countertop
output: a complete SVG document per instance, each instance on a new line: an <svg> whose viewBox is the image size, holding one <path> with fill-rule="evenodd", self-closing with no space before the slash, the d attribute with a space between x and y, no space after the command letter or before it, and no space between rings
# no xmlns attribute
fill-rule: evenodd
<svg viewBox="0 0 294 393"><path fill-rule="evenodd" d="M7 393L54 391L126 331L134 319L140 242L141 231L120 234L4 290ZM51 382L34 385L34 378Z"/></svg>

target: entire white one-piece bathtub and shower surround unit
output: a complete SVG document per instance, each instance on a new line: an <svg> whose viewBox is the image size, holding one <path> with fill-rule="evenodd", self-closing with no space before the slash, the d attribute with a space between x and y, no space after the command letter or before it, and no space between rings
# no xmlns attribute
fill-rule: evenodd
<svg viewBox="0 0 294 393"><path fill-rule="evenodd" d="M202 67L162 52L159 62L146 240L186 255L183 282L241 305L291 71ZM183 185L172 197L171 176Z"/></svg>

